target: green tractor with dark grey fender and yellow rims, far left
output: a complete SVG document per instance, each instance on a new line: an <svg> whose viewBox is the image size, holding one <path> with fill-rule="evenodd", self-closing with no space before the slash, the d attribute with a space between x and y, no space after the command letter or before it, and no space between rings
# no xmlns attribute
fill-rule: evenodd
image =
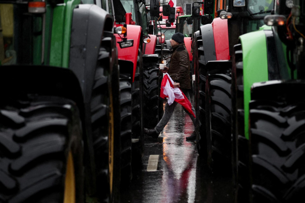
<svg viewBox="0 0 305 203"><path fill-rule="evenodd" d="M0 2L1 202L119 201L131 90L105 2Z"/></svg>

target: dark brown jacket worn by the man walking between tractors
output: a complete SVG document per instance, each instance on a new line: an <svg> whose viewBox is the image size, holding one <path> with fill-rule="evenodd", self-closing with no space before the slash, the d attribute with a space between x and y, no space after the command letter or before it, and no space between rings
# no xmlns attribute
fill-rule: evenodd
<svg viewBox="0 0 305 203"><path fill-rule="evenodd" d="M180 88L191 89L190 59L184 43L173 46L168 74Z"/></svg>

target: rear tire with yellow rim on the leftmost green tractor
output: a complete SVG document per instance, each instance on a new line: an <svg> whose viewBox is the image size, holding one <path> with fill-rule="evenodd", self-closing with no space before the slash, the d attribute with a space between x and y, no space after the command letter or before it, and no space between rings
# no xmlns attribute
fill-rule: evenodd
<svg viewBox="0 0 305 203"><path fill-rule="evenodd" d="M115 135L114 95L108 47L101 47L90 99L91 132L96 168L96 196L103 202L117 202L120 185L120 135ZM110 70L109 70L110 69ZM117 71L115 71L117 72ZM112 89L113 88L113 89ZM120 122L119 120L116 122ZM119 128L119 127L118 127Z"/></svg>

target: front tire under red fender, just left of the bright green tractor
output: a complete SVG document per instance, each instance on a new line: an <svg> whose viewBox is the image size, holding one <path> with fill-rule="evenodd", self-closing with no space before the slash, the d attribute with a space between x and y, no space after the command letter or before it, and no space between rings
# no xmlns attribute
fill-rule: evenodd
<svg viewBox="0 0 305 203"><path fill-rule="evenodd" d="M231 172L231 76L209 73L206 85L208 165L214 172Z"/></svg>

